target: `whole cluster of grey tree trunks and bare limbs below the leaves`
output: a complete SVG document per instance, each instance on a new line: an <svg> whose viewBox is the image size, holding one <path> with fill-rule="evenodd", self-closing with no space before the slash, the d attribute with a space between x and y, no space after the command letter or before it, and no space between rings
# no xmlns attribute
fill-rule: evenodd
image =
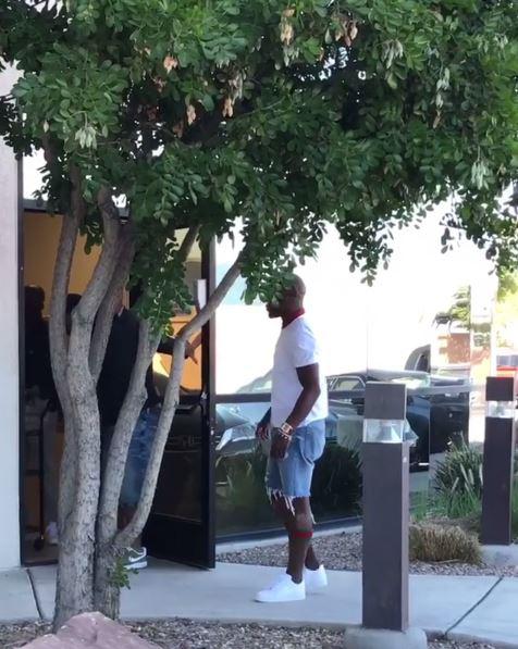
<svg viewBox="0 0 518 649"><path fill-rule="evenodd" d="M100 196L104 205L106 192ZM121 228L113 221L104 220L104 246L94 276L74 310L70 341L64 334L64 303L73 254L72 228L66 237L66 272L60 274L55 300L58 314L54 326L53 366L60 379L61 392L65 396L65 449L60 488L61 539L58 566L54 627L59 627L73 615L99 610L116 619L120 607L120 588L127 584L127 574L121 565L122 548L130 546L141 533L149 515L155 495L163 448L171 428L180 395L180 383L184 366L185 345L190 335L199 330L214 313L231 286L239 275L240 258L226 273L209 298L206 307L184 327L175 341L175 362L171 369L169 386L162 413L155 437L151 458L146 472L143 494L137 511L130 525L116 529L116 512L125 458L132 432L144 401L143 388L146 369L158 345L158 338L150 336L148 323L140 326L140 342L137 362L132 376L126 400L115 426L108 465L102 476L100 466L100 422L96 384L106 350L113 296L126 274L133 250L121 247ZM66 233L64 232L64 235ZM192 246L197 229L193 228L182 253ZM63 235L63 236L64 236ZM121 251L125 250L123 254ZM124 271L115 271L121 254L127 261ZM59 264L63 260L58 259ZM100 315L97 320L96 315ZM63 364L63 359L66 363ZM63 367L66 367L63 371Z"/></svg>

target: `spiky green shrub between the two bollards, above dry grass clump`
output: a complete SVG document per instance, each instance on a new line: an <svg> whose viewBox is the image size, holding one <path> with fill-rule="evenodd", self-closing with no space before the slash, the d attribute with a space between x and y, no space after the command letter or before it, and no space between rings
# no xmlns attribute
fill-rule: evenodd
<svg viewBox="0 0 518 649"><path fill-rule="evenodd" d="M482 498L482 453L466 444L446 453L434 476L440 496L467 497L468 502Z"/></svg>

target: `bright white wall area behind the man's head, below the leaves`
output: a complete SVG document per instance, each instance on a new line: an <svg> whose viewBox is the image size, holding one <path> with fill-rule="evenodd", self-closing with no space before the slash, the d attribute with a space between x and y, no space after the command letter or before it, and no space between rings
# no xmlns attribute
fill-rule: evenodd
<svg viewBox="0 0 518 649"><path fill-rule="evenodd" d="M441 252L441 220L448 205L430 213L419 229L394 233L394 254L372 287L349 272L350 260L337 233L329 228L317 260L298 269L307 284L306 310L320 340L328 375L370 370L400 371L409 354L432 341L433 321L448 309L461 286L488 283L491 264L483 250L460 237ZM224 239L217 249L218 274L237 255ZM217 315L217 391L232 394L271 367L279 323L264 307L239 302L236 286Z"/></svg>

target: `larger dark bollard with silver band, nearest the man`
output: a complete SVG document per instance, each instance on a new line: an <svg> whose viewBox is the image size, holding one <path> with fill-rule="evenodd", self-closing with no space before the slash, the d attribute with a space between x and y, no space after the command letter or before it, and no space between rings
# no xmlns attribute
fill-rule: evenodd
<svg viewBox="0 0 518 649"><path fill-rule="evenodd" d="M363 437L363 626L408 628L409 445L406 386L369 383ZM369 427L377 435L369 435ZM386 437L383 429L392 434Z"/></svg>

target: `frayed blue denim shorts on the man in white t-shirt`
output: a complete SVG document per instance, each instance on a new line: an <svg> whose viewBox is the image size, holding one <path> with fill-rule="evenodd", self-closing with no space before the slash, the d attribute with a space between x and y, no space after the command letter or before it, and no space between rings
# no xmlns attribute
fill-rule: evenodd
<svg viewBox="0 0 518 649"><path fill-rule="evenodd" d="M285 458L268 459L266 485L270 498L309 498L314 462L322 455L324 446L325 420L297 428Z"/></svg>

